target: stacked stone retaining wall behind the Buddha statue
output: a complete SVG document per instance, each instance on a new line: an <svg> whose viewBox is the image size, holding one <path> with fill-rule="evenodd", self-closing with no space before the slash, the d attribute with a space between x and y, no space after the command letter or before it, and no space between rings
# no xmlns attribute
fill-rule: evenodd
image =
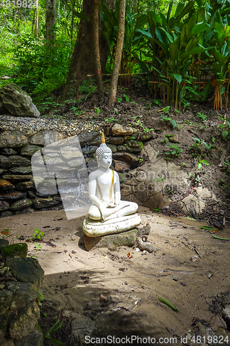
<svg viewBox="0 0 230 346"><path fill-rule="evenodd" d="M35 210L59 210L63 208L59 188L56 193L46 191L50 185L49 176L43 178L44 189L37 192L35 179L32 175L31 157L41 148L78 135L85 162L88 168L95 167L95 150L101 143L101 132L104 126L90 122L74 120L50 120L43 118L25 118L15 116L0 116L0 215L1 217ZM137 131L132 127L113 125L104 127L106 143L113 152L113 167L121 173L124 181L124 171L137 167L140 163L140 152L143 141L153 134ZM50 153L61 161L61 153ZM57 157L56 157L57 156ZM65 160L63 179L75 174L79 167L71 161L71 155ZM56 161L55 161L56 160Z"/></svg>

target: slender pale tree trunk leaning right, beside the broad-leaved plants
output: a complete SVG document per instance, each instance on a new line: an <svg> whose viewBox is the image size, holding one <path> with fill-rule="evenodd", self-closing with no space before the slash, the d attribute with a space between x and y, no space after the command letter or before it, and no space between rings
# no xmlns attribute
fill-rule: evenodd
<svg viewBox="0 0 230 346"><path fill-rule="evenodd" d="M113 73L111 78L111 88L108 96L108 109L113 109L117 95L117 81L119 77L119 68L122 60L122 51L124 44L124 24L126 13L126 0L119 0L118 10L118 33L115 60L113 64Z"/></svg>

